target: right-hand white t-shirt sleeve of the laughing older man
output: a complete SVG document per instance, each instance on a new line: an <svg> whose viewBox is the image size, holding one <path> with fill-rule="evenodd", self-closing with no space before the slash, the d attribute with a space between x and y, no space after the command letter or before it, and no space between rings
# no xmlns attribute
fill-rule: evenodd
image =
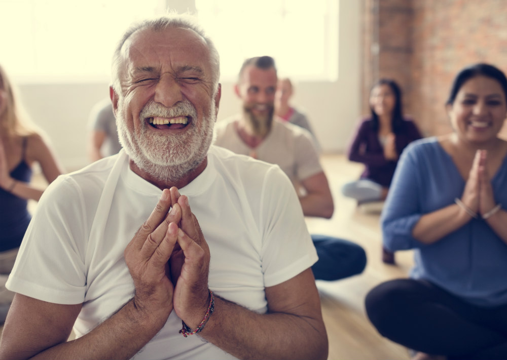
<svg viewBox="0 0 507 360"><path fill-rule="evenodd" d="M311 267L318 257L294 186L277 166L264 179L260 212L262 270L270 287Z"/></svg>

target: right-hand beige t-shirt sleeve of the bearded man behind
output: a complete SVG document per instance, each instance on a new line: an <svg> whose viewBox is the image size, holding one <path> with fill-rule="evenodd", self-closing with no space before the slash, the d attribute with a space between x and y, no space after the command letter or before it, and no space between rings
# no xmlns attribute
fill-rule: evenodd
<svg viewBox="0 0 507 360"><path fill-rule="evenodd" d="M311 138L311 134L302 129L301 134L297 135L295 144L296 178L303 181L312 175L322 171L320 166L318 150Z"/></svg>

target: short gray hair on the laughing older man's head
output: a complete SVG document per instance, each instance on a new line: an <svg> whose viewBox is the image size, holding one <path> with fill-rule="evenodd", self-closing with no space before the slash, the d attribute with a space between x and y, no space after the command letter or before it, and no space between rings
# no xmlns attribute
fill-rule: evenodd
<svg viewBox="0 0 507 360"><path fill-rule="evenodd" d="M127 39L138 30L153 30L153 31L161 31L165 30L169 27L172 28L184 28L189 29L196 32L200 35L209 49L210 60L211 60L211 82L213 86L213 94L218 90L218 84L220 79L220 56L219 52L216 50L211 39L204 33L204 30L197 24L196 18L188 15L188 14L168 14L163 15L156 18L145 19L139 22L135 22L129 26L129 28L125 31L122 38L118 42L118 45L115 49L115 53L113 54L113 64L112 64L112 84L113 89L120 94L121 93L121 84L120 84L120 67L123 62L122 58L122 48Z"/></svg>

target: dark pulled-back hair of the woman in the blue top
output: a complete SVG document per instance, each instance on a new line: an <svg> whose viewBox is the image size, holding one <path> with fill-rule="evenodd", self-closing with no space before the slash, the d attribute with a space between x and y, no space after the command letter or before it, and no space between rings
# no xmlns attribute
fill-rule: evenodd
<svg viewBox="0 0 507 360"><path fill-rule="evenodd" d="M465 67L456 75L454 82L452 83L451 91L449 93L449 98L447 99L446 105L452 105L456 99L456 95L458 94L459 89L461 89L463 84L472 77L476 76L486 76L496 80L502 87L505 101L507 101L507 78L505 77L505 74L502 72L502 70L493 65L478 63Z"/></svg>

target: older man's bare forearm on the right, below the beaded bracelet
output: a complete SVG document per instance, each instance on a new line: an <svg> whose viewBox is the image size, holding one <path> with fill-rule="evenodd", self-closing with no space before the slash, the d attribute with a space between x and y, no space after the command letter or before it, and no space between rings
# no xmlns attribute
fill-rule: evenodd
<svg viewBox="0 0 507 360"><path fill-rule="evenodd" d="M215 297L201 337L243 359L326 359L328 339L319 319L290 313L258 314Z"/></svg>

